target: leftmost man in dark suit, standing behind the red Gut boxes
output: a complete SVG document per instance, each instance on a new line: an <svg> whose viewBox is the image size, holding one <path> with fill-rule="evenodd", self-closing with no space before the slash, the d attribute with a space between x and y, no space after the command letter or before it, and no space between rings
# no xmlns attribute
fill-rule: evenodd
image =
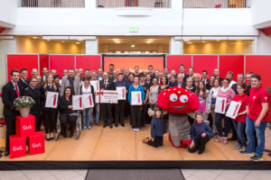
<svg viewBox="0 0 271 180"><path fill-rule="evenodd" d="M5 156L9 155L9 136L15 134L15 117L20 115L20 112L14 107L14 100L21 96L20 89L22 87L18 84L19 71L14 69L11 72L11 81L4 85L2 89L2 101L4 103L4 116L6 123L6 137L5 137Z"/></svg>

